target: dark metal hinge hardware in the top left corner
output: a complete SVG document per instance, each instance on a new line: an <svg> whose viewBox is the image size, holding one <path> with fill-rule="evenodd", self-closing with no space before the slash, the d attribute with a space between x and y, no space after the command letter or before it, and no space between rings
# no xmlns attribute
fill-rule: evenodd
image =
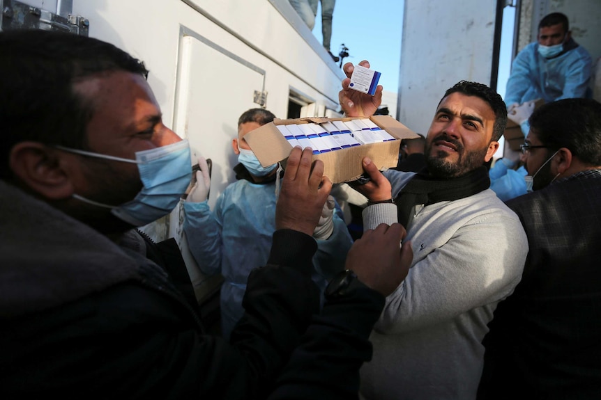
<svg viewBox="0 0 601 400"><path fill-rule="evenodd" d="M3 0L1 30L43 29L87 36L90 22L80 15L61 15L16 0Z"/></svg>

